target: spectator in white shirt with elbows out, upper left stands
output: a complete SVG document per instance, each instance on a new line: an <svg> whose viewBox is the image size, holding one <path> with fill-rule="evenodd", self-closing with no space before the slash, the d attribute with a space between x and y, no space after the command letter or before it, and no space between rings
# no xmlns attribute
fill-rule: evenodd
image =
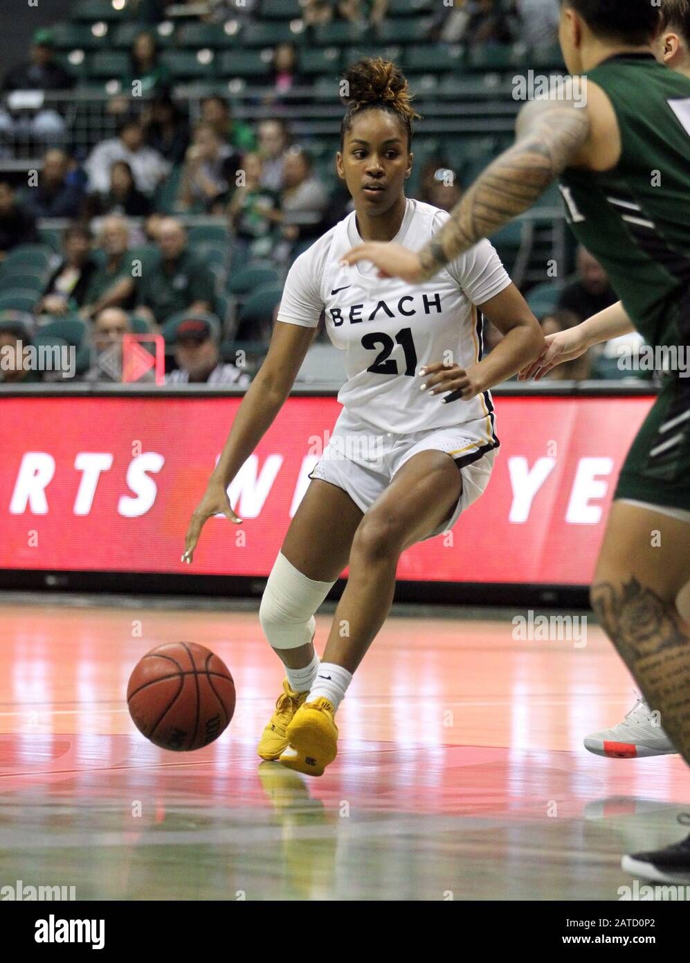
<svg viewBox="0 0 690 963"><path fill-rule="evenodd" d="M137 119L124 120L117 137L96 144L90 152L86 163L89 192L108 194L115 161L129 164L137 188L145 195L152 195L170 171L165 158L143 143L143 128Z"/></svg>

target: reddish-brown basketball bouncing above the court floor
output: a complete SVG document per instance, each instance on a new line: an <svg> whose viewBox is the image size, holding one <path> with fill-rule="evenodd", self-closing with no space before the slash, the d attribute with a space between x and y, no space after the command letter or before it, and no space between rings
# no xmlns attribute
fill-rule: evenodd
<svg viewBox="0 0 690 963"><path fill-rule="evenodd" d="M135 665L127 706L146 739L190 752L217 740L235 712L235 683L217 655L195 642L168 642Z"/></svg>

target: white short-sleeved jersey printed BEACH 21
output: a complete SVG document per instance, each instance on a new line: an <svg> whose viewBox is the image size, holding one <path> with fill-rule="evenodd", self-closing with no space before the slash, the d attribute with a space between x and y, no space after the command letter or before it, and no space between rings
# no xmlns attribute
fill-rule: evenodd
<svg viewBox="0 0 690 963"><path fill-rule="evenodd" d="M407 200L396 244L419 250L447 221L445 211ZM431 280L410 285L380 278L370 262L339 261L362 244L352 212L300 254L288 273L278 321L316 327L325 311L328 335L345 351L347 380L338 401L364 422L396 434L484 420L496 443L491 394L442 404L420 390L420 368L434 361L472 367L481 357L482 322L475 305L511 283L498 254L481 241Z"/></svg>

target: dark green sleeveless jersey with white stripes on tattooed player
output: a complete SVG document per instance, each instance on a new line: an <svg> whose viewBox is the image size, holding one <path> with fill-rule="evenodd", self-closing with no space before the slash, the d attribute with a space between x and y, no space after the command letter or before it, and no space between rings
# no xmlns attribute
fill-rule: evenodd
<svg viewBox="0 0 690 963"><path fill-rule="evenodd" d="M623 150L612 170L564 172L568 221L647 342L689 345L690 78L623 54L588 79L613 104Z"/></svg>

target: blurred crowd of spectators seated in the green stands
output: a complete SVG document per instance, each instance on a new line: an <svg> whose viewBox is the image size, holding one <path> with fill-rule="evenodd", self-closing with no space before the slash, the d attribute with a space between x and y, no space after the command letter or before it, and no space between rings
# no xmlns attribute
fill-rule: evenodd
<svg viewBox="0 0 690 963"><path fill-rule="evenodd" d="M429 36L481 44L552 42L558 6L558 0L515 0L507 13L495 0L444 6L433 17ZM387 0L306 0L303 6L310 26L340 18L365 20L375 29L386 11ZM218 5L212 5L209 15L217 13ZM113 98L114 137L79 156L64 146L64 118L38 111L27 121L31 136L43 143L38 178L18 189L11 179L0 179L0 262L9 266L15 247L38 245L42 221L70 223L62 251L43 265L35 301L24 310L4 308L2 292L16 287L20 275L4 274L0 267L0 347L30 340L46 323L77 318L87 325L95 361L80 377L118 379L116 366L98 364L98 355L114 356L113 346L136 328L165 333L172 346L168 380L246 384L247 373L223 360L220 346L233 340L268 345L270 325L240 324L219 291L218 273L204 256L208 251L190 244L180 218L222 218L233 264L270 265L282 278L301 250L351 210L349 197L341 184L319 176L309 150L295 143L279 110L271 119L249 123L233 116L228 99L214 94L201 101L200 117L192 123L186 105L171 95L152 32L134 39L131 65L132 77L141 80L148 96L137 111L126 99ZM125 78L125 86L128 82ZM51 32L40 30L29 60L7 73L3 91L56 91L72 83L56 61ZM302 85L294 45L279 44L264 103L277 107L286 91ZM0 139L22 122L0 110ZM457 177L446 176L453 174L450 163L443 157L427 162L419 199L445 210L457 203L462 188ZM613 300L605 273L581 251L577 277L544 317L545 329L571 326ZM496 336L489 332L489 345ZM591 363L585 355L553 377L588 377ZM0 371L0 380L22 379L20 370Z"/></svg>

